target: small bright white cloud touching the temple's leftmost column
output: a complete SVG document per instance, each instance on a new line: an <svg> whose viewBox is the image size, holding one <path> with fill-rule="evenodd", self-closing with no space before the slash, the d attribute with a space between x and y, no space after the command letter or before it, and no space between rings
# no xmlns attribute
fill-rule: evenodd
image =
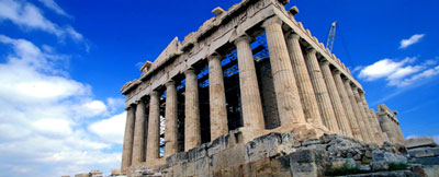
<svg viewBox="0 0 439 177"><path fill-rule="evenodd" d="M90 125L89 129L101 139L112 143L123 143L126 113Z"/></svg>

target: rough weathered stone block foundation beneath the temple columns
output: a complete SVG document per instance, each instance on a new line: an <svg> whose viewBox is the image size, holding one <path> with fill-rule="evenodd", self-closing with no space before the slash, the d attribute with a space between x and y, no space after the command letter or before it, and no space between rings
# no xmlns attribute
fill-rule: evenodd
<svg viewBox="0 0 439 177"><path fill-rule="evenodd" d="M291 133L270 133L243 143L240 132L178 153L155 169L131 176L325 176L331 168L349 165L362 174L418 176L406 168L389 172L391 164L407 164L403 146L362 143L341 135L324 135L299 142ZM362 176L362 175L357 175Z"/></svg>

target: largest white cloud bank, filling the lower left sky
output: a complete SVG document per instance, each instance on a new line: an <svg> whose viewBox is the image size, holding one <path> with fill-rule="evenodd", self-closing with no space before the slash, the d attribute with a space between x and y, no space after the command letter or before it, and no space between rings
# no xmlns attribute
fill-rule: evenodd
<svg viewBox="0 0 439 177"><path fill-rule="evenodd" d="M12 49L0 59L0 176L58 177L120 166L121 145L101 140L88 129L91 120L82 119L109 114L108 106L92 97L90 85L68 76L58 63L65 56L3 35L0 46ZM114 130L124 128L119 123Z"/></svg>

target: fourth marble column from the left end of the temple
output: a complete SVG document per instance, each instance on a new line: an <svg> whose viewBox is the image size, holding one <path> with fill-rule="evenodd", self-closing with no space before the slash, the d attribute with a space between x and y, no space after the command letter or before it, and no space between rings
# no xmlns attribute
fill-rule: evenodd
<svg viewBox="0 0 439 177"><path fill-rule="evenodd" d="M177 128L177 87L173 81L166 84L166 108L165 108L165 157L176 154L178 151Z"/></svg>

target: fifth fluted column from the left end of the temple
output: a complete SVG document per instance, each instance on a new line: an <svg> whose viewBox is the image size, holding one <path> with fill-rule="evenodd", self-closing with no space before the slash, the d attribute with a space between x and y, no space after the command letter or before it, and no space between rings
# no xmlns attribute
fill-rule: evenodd
<svg viewBox="0 0 439 177"><path fill-rule="evenodd" d="M199 84L194 69L184 71L184 151L201 144Z"/></svg>

